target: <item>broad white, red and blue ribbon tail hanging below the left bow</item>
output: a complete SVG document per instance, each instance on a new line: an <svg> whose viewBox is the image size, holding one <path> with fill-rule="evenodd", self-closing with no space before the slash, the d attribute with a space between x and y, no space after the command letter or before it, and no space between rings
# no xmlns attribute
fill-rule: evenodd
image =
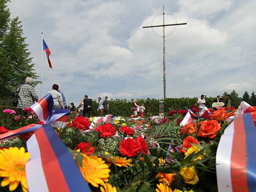
<svg viewBox="0 0 256 192"><path fill-rule="evenodd" d="M27 141L29 191L91 191L73 156L49 124Z"/></svg>

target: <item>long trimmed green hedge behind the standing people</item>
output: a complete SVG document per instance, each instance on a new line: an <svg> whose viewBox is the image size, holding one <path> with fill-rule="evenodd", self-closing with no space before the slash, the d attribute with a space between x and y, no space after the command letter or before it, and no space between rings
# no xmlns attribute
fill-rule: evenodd
<svg viewBox="0 0 256 192"><path fill-rule="evenodd" d="M166 98L164 99L164 112L165 114L169 113L170 110L180 110L190 108L191 105L196 104L198 98ZM214 98L206 98L206 107L210 108L212 106ZM144 114L146 116L158 115L158 103L159 99L139 99L138 105L144 103L145 111ZM109 114L113 114L115 116L130 116L133 115L132 100L127 99L116 99L109 100ZM6 118L7 114L3 113L3 110L9 108L16 111L17 115L20 114L19 110L15 107L10 106L0 106L0 119ZM92 101L92 116L98 116L98 102L96 100ZM147 115L148 114L148 115Z"/></svg>

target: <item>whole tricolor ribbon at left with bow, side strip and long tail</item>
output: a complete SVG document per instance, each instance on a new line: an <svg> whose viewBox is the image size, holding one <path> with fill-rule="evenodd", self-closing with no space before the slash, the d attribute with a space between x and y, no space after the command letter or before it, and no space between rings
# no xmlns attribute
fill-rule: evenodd
<svg viewBox="0 0 256 192"><path fill-rule="evenodd" d="M30 192L91 191L68 148L52 126L64 127L70 115L67 109L53 110L51 94L31 106L43 125L30 124L0 135L7 140L17 135L35 132L27 141L30 159L26 177Z"/></svg>

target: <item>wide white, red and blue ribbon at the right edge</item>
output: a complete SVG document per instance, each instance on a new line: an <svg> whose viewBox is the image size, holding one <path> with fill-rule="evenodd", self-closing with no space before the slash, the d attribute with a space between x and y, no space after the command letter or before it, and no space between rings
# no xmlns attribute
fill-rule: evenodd
<svg viewBox="0 0 256 192"><path fill-rule="evenodd" d="M256 191L255 138L251 113L240 114L225 129L216 154L219 191Z"/></svg>

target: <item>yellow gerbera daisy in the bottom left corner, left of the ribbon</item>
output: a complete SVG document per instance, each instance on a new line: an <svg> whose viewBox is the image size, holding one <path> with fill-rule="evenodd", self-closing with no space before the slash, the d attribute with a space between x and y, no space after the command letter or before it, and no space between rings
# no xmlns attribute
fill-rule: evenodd
<svg viewBox="0 0 256 192"><path fill-rule="evenodd" d="M9 190L15 190L21 183L23 191L28 191L25 164L30 157L30 153L26 152L24 147L0 149L0 177L5 177L1 182L1 186L9 185Z"/></svg>

